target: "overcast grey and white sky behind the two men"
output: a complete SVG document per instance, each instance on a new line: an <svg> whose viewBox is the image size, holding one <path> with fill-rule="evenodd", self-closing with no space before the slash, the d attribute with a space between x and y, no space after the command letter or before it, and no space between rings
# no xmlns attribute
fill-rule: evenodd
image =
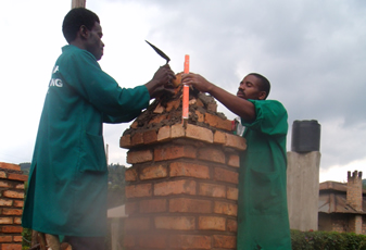
<svg viewBox="0 0 366 250"><path fill-rule="evenodd" d="M0 8L0 161L30 162L51 70L66 45L62 21L71 0L3 1ZM235 93L251 72L272 83L268 99L292 123L321 125L320 182L346 180L366 166L366 4L362 0L88 0L103 28L102 68L121 87L151 79L165 61ZM235 115L219 105L228 118ZM130 124L105 125L110 163L126 164L118 148Z"/></svg>

